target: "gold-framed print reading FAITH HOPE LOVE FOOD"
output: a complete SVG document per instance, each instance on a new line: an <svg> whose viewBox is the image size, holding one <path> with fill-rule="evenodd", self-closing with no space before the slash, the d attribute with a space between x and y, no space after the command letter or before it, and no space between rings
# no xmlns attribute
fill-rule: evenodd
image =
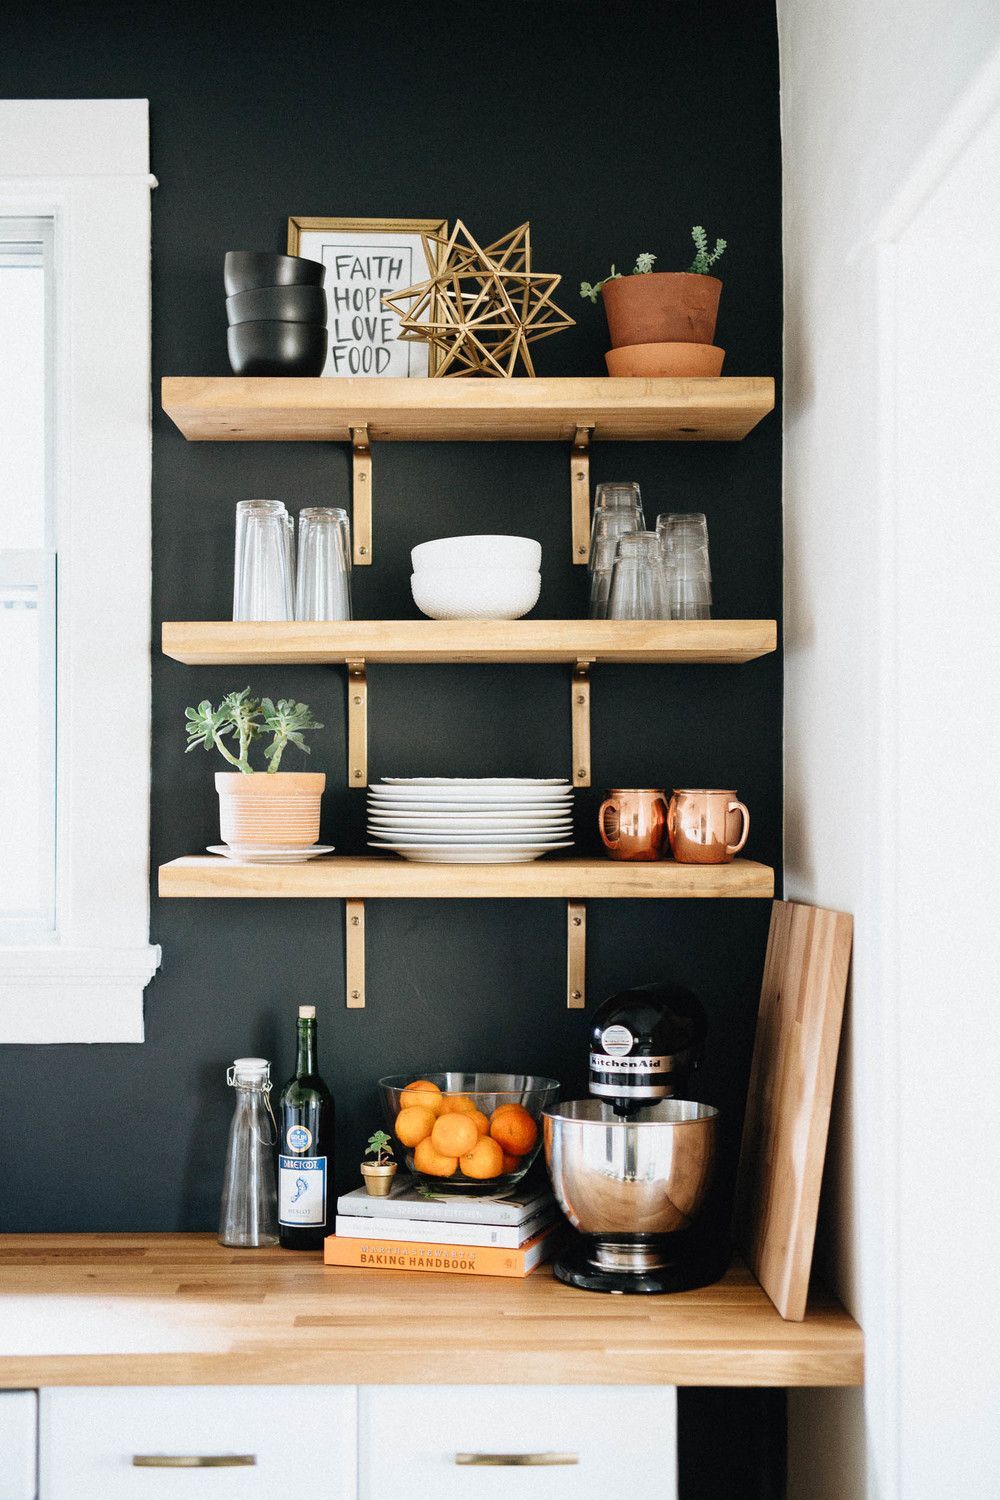
<svg viewBox="0 0 1000 1500"><path fill-rule="evenodd" d="M447 240L448 220L289 218L288 254L322 261L327 267L324 375L420 378L435 374L438 351L423 340L393 336L399 314L382 308L381 302L382 292L433 276L441 250L424 236ZM427 254L433 255L433 266L427 264Z"/></svg>

